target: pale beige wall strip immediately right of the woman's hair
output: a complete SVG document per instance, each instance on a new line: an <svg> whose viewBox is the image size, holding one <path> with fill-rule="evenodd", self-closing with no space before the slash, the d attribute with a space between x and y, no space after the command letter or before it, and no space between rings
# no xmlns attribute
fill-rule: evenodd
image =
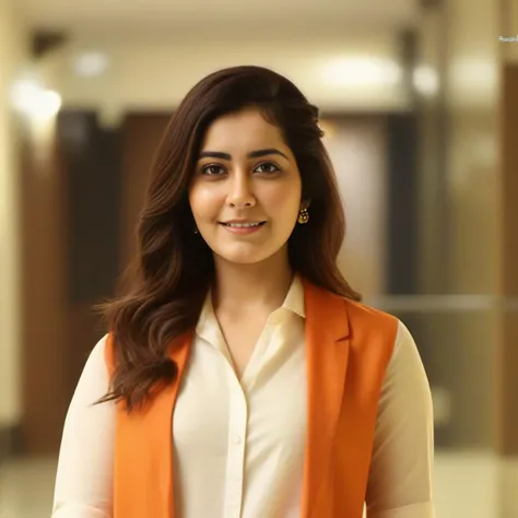
<svg viewBox="0 0 518 518"><path fill-rule="evenodd" d="M365 297L385 293L387 263L387 132L384 120L334 121L325 138L345 205L346 239L339 264Z"/></svg>

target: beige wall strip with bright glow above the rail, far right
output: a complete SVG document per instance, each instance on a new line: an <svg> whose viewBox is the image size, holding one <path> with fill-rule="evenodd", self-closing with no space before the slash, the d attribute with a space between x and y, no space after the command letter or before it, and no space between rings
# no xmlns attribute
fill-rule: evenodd
<svg viewBox="0 0 518 518"><path fill-rule="evenodd" d="M449 2L450 279L462 293L495 293L498 287L501 12L495 0Z"/></svg>

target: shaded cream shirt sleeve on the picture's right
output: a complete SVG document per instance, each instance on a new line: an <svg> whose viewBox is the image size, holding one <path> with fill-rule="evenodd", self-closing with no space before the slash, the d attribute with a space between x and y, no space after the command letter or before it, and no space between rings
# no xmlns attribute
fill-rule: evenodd
<svg viewBox="0 0 518 518"><path fill-rule="evenodd" d="M367 518L435 518L432 393L415 342L399 322L381 389Z"/></svg>

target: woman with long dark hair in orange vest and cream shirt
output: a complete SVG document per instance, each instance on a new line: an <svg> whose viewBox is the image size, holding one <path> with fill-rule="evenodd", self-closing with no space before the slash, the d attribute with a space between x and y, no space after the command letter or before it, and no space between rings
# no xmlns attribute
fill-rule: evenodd
<svg viewBox="0 0 518 518"><path fill-rule="evenodd" d="M426 375L337 268L321 137L262 68L213 73L178 107L136 284L69 409L55 518L434 516Z"/></svg>

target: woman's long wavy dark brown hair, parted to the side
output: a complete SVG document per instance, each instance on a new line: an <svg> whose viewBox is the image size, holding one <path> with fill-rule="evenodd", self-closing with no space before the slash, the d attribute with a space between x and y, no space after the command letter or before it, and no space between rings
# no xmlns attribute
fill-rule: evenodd
<svg viewBox="0 0 518 518"><path fill-rule="evenodd" d="M345 219L318 109L271 70L244 66L217 71L184 98L155 155L139 220L133 285L102 306L116 368L99 402L123 400L131 411L156 387L176 379L168 348L196 327L214 274L211 249L192 232L188 201L198 153L211 122L251 106L281 129L301 172L303 199L310 201L309 222L296 225L289 240L293 270L330 292L360 299L337 267Z"/></svg>

